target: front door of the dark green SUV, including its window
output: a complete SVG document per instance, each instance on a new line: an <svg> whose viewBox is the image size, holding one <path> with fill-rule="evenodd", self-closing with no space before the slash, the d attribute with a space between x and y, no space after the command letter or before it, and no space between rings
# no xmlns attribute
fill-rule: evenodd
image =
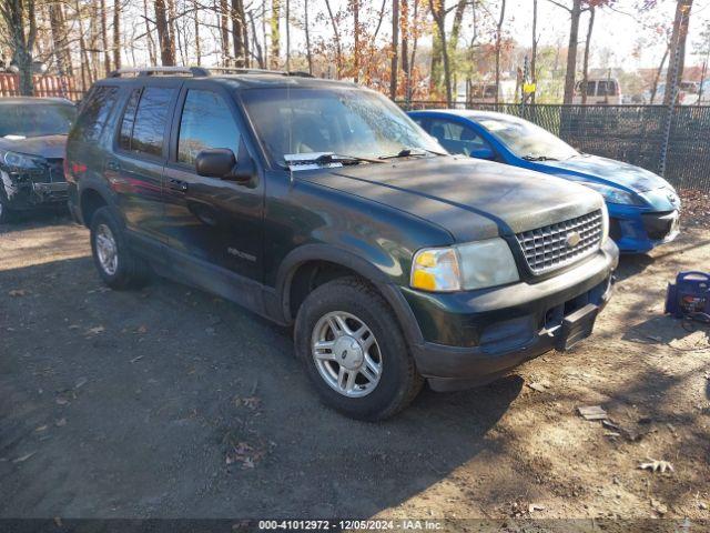
<svg viewBox="0 0 710 533"><path fill-rule="evenodd" d="M201 150L227 148L235 157L247 150L242 133L227 91L185 82L164 171L165 232L175 257L195 262L197 269L216 268L261 281L262 180L255 175L243 184L195 172Z"/></svg>

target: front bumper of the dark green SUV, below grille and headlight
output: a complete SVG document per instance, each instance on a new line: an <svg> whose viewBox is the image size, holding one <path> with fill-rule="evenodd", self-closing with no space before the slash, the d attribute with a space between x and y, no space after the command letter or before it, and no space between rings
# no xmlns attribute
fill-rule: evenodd
<svg viewBox="0 0 710 533"><path fill-rule="evenodd" d="M569 348L609 301L618 258L609 240L578 266L537 283L456 294L406 290L425 339L412 346L417 370L434 390L466 389Z"/></svg>

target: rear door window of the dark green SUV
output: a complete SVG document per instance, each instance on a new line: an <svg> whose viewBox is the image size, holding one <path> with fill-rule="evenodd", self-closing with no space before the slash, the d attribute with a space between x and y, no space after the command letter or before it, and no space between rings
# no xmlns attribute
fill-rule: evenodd
<svg viewBox="0 0 710 533"><path fill-rule="evenodd" d="M143 89L135 108L135 92L131 94L123 114L119 144L124 150L146 155L163 153L165 123L175 89L148 87ZM129 133L130 132L130 133Z"/></svg>

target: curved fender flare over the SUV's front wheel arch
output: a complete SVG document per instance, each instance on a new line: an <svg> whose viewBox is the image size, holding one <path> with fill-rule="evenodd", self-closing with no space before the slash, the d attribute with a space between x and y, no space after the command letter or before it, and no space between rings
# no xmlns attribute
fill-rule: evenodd
<svg viewBox="0 0 710 533"><path fill-rule="evenodd" d="M387 301L402 326L407 342L414 344L424 342L422 330L412 308L392 279L366 259L332 244L304 244L290 252L282 261L276 274L275 289L281 303L281 312L287 323L292 323L294 320L294 316L291 315L290 301L293 276L298 268L308 261L327 261L359 274L372 283Z"/></svg>

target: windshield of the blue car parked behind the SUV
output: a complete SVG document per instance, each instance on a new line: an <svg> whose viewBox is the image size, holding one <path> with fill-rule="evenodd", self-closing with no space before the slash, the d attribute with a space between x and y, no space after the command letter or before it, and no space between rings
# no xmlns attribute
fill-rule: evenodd
<svg viewBox="0 0 710 533"><path fill-rule="evenodd" d="M561 160L579 155L560 138L527 120L496 117L479 119L478 123L518 158Z"/></svg>

